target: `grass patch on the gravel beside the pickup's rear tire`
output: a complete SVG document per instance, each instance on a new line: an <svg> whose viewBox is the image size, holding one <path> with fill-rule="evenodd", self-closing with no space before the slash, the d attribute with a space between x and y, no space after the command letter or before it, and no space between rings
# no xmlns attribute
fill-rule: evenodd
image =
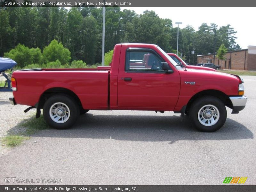
<svg viewBox="0 0 256 192"><path fill-rule="evenodd" d="M45 129L49 129L49 126L45 123L43 116L36 119L33 114L9 130L8 135L2 138L2 143L8 147L15 147L21 145L24 140L29 140L31 135Z"/></svg>

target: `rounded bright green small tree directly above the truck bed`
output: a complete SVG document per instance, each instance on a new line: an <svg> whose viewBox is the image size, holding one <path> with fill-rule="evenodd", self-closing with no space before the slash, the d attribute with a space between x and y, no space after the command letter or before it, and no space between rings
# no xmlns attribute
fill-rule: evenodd
<svg viewBox="0 0 256 192"><path fill-rule="evenodd" d="M61 43L57 40L52 40L52 42L44 47L43 60L44 63L59 60L62 65L69 62L71 59L70 52L67 48L63 47Z"/></svg>

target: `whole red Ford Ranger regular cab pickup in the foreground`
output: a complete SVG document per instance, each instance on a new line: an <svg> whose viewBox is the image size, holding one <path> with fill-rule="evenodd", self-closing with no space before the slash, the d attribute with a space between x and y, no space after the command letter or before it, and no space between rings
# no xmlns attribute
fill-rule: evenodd
<svg viewBox="0 0 256 192"><path fill-rule="evenodd" d="M13 72L13 105L43 109L54 128L75 124L94 110L152 110L187 114L195 127L213 132L225 123L226 107L244 109L243 80L214 71L182 68L153 44L116 44L111 67L30 69ZM171 125L170 125L171 126Z"/></svg>

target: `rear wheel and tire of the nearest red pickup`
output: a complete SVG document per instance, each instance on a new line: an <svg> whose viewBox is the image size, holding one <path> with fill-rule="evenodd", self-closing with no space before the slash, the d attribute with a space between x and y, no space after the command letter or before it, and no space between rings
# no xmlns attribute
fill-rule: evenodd
<svg viewBox="0 0 256 192"><path fill-rule="evenodd" d="M53 112L50 112L50 110ZM79 116L79 107L72 97L57 94L46 100L43 115L46 123L51 127L68 129L76 123Z"/></svg>

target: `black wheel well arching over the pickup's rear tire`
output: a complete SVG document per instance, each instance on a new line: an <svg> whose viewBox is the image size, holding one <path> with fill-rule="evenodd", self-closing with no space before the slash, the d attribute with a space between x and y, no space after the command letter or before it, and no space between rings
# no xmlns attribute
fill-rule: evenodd
<svg viewBox="0 0 256 192"><path fill-rule="evenodd" d="M73 91L70 91L69 89L62 88L62 87L54 87L54 88L46 90L41 95L41 97L39 99L38 107L42 109L44 107L45 101L56 93L62 93L62 94L69 95L70 97L72 97L76 100L79 108L83 109L82 103L81 103L80 99L78 98L78 96Z"/></svg>

